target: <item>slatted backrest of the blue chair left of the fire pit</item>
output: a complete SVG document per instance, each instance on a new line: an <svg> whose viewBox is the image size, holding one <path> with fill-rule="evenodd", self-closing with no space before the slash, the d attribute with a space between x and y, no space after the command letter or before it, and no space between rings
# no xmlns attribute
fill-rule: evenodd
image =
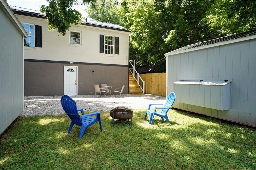
<svg viewBox="0 0 256 170"><path fill-rule="evenodd" d="M60 99L60 103L64 111L72 120L72 122L74 122L76 125L81 126L82 122L80 119L80 115L78 114L78 111L77 111L77 103L68 95L62 96Z"/></svg>

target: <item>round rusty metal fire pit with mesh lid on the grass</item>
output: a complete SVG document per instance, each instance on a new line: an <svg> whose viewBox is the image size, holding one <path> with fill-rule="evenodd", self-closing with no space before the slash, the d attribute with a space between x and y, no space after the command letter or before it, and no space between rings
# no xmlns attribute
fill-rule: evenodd
<svg viewBox="0 0 256 170"><path fill-rule="evenodd" d="M133 111L125 107L117 107L110 111L110 116L112 117L113 125L117 121L126 121L132 124ZM115 119L118 120L115 121ZM131 121L129 121L130 119Z"/></svg>

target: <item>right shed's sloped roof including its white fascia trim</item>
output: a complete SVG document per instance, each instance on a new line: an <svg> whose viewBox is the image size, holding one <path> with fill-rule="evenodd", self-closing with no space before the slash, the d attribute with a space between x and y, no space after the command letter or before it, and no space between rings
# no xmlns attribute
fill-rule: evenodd
<svg viewBox="0 0 256 170"><path fill-rule="evenodd" d="M253 38L256 38L256 29L246 31L246 32L241 32L238 34L228 35L225 37L215 38L213 40L208 40L208 41L204 41L204 42L200 42L200 43L187 45L185 47L170 51L170 52L166 53L165 56L179 54L179 53L185 53L188 51L194 51L194 50L204 49L204 48L209 48L209 47L214 47L214 46L219 46L219 45L223 45L223 44L229 44L229 43L238 42L238 41L250 40Z"/></svg>

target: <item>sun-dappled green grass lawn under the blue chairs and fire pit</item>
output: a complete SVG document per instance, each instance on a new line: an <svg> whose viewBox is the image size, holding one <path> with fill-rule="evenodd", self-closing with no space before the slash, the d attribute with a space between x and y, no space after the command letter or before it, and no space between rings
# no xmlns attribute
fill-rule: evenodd
<svg viewBox="0 0 256 170"><path fill-rule="evenodd" d="M134 110L133 124L112 125L109 112L78 139L70 119L18 117L1 135L1 169L256 169L256 130L170 110L170 122Z"/></svg>

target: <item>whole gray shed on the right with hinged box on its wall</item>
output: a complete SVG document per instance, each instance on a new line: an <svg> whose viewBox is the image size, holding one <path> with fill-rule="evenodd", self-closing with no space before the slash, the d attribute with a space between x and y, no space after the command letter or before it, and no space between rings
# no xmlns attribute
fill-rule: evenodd
<svg viewBox="0 0 256 170"><path fill-rule="evenodd" d="M165 54L174 108L256 127L256 30Z"/></svg>

